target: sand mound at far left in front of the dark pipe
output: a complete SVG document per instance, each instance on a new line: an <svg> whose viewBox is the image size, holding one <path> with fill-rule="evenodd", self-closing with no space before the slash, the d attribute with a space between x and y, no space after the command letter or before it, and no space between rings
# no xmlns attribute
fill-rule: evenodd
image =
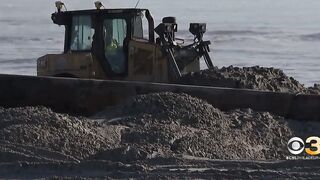
<svg viewBox="0 0 320 180"><path fill-rule="evenodd" d="M116 147L120 130L44 107L0 108L0 157L9 153L37 159L41 154L47 158L54 154L52 159L82 159L98 150ZM40 150L45 152L38 153Z"/></svg>

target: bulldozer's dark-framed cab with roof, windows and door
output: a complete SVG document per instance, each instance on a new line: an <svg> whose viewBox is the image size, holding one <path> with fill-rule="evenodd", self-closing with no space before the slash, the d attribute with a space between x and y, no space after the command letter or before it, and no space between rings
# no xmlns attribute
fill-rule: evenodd
<svg viewBox="0 0 320 180"><path fill-rule="evenodd" d="M129 42L143 39L142 18L150 24L150 39L154 42L153 19L146 9L101 9L57 12L55 24L65 26L64 54L87 54L99 61L98 76L128 75ZM151 35L150 35L151 34ZM103 73L102 73L103 72ZM96 72L97 73L97 72Z"/></svg>

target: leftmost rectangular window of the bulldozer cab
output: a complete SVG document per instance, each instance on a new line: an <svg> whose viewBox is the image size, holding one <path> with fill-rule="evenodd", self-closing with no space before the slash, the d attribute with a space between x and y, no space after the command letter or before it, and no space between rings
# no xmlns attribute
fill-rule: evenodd
<svg viewBox="0 0 320 180"><path fill-rule="evenodd" d="M72 17L71 51L91 50L94 29L90 16Z"/></svg>

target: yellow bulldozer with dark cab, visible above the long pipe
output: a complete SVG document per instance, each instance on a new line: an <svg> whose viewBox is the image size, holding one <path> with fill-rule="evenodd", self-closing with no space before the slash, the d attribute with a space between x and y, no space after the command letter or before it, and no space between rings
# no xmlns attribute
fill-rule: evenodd
<svg viewBox="0 0 320 180"><path fill-rule="evenodd" d="M94 10L62 11L56 4L52 20L65 26L64 52L39 58L38 76L167 83L199 71L200 59L213 68L210 41L203 41L206 24L191 23L194 42L184 45L175 37L174 17L154 28L147 9L101 9L96 2Z"/></svg>

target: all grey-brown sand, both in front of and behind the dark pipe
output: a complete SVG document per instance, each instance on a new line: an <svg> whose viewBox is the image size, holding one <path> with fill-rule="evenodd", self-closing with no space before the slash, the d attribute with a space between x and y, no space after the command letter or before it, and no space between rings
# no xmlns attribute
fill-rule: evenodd
<svg viewBox="0 0 320 180"><path fill-rule="evenodd" d="M189 76L189 77L188 77ZM318 94L273 68L227 67L180 83ZM317 177L317 160L284 161L293 136L319 132L251 109L221 111L171 92L139 95L91 117L0 108L0 178Z"/></svg>

